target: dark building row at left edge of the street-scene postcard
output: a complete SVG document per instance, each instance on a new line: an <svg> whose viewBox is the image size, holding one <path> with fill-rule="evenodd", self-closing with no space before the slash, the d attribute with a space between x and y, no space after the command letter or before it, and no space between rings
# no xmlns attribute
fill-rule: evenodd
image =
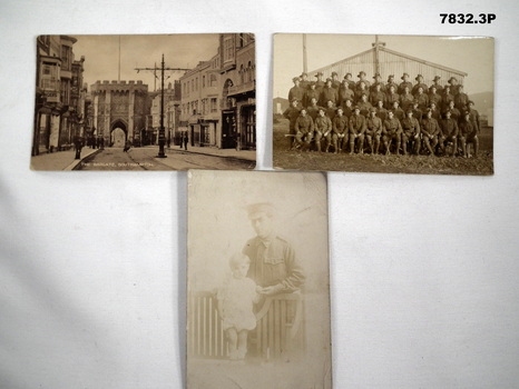
<svg viewBox="0 0 519 389"><path fill-rule="evenodd" d="M68 148L79 136L85 57L75 61L76 41L69 36L37 38L33 156Z"/></svg>

